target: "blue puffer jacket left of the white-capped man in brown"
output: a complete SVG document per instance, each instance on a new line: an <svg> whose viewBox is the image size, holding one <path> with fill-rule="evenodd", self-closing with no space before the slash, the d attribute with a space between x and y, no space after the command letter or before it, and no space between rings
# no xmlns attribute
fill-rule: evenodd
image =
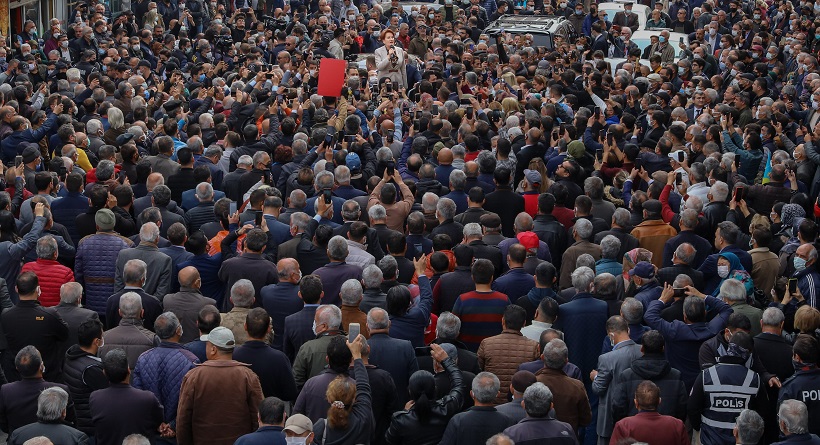
<svg viewBox="0 0 820 445"><path fill-rule="evenodd" d="M131 374L131 385L151 391L165 407L165 422L176 429L177 405L182 378L194 369L199 359L179 343L162 342L143 352Z"/></svg>

